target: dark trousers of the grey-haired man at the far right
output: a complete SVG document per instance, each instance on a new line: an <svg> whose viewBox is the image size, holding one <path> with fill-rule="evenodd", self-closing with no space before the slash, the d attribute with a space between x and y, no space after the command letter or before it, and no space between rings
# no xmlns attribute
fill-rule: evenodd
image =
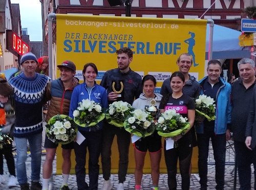
<svg viewBox="0 0 256 190"><path fill-rule="evenodd" d="M238 166L238 176L240 190L251 189L251 164L254 166L254 180L256 181L256 149L249 150L244 142L234 141L236 151L236 162ZM256 189L256 183L254 183Z"/></svg>

